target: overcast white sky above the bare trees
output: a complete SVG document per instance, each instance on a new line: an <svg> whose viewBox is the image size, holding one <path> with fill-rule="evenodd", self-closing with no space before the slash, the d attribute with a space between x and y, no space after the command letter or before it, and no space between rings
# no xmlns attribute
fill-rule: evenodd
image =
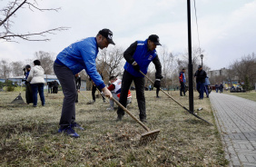
<svg viewBox="0 0 256 167"><path fill-rule="evenodd" d="M0 8L8 0L0 0ZM36 33L58 26L68 31L48 35L50 42L19 44L0 41L0 60L24 61L37 51L58 54L64 47L100 29L113 31L113 41L126 49L136 40L158 34L172 54L188 47L185 0L38 0L42 8L61 7L58 13L17 11L12 30ZM192 0L192 45L198 45ZM196 0L203 63L212 70L228 67L235 59L256 52L256 0ZM2 29L0 28L0 31Z"/></svg>

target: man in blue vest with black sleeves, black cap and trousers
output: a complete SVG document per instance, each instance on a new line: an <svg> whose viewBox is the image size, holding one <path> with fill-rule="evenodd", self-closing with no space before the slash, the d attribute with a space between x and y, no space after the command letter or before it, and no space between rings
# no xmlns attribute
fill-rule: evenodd
<svg viewBox="0 0 256 167"><path fill-rule="evenodd" d="M159 43L159 37L156 34L152 34L145 41L136 41L130 45L123 53L126 60L124 64L124 72L122 79L122 88L119 102L123 106L126 106L127 95L131 83L135 83L136 98L140 109L140 120L146 123L146 109L145 109L145 97L144 97L144 76L147 74L148 66L151 62L155 65L155 83L154 87L160 88L162 79L162 65L156 54L155 48ZM140 70L143 74L140 74ZM121 121L123 118L123 109L118 107L116 121Z"/></svg>

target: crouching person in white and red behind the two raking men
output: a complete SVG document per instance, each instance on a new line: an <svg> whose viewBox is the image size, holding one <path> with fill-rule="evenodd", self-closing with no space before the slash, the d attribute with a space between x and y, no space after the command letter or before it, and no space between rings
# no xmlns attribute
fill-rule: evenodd
<svg viewBox="0 0 256 167"><path fill-rule="evenodd" d="M119 98L120 98L120 93L121 93L121 85L122 85L122 80L121 79L117 79L115 76L111 76L110 77L110 85L108 86L108 90L111 91L112 95L113 95L113 98L117 101L119 101ZM114 102L113 100L111 99L109 101L110 103L110 108L107 108L107 110L113 110L113 105L114 105ZM127 103L126 103L126 106L128 104L132 103L132 93L131 91L129 90L128 91L128 95L127 95Z"/></svg>

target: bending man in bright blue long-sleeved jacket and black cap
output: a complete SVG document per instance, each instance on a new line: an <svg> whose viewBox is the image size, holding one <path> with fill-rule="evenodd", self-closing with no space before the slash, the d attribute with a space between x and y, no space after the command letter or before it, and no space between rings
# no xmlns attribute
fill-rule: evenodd
<svg viewBox="0 0 256 167"><path fill-rule="evenodd" d="M88 37L74 44L70 44L57 55L54 62L54 73L60 81L64 93L64 103L58 133L66 133L72 137L79 137L74 132L74 128L84 130L78 123L75 123L75 97L77 92L74 74L85 70L94 83L102 89L104 95L112 98L112 93L103 83L101 75L97 72L95 63L99 52L98 47L103 49L108 44L114 44L112 36L112 31L103 29L99 31L96 37Z"/></svg>

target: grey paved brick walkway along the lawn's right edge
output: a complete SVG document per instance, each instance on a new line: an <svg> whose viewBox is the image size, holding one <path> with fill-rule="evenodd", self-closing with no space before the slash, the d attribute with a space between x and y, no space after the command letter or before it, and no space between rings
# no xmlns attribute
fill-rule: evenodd
<svg viewBox="0 0 256 167"><path fill-rule="evenodd" d="M230 166L256 167L256 102L224 93L210 101Z"/></svg>

